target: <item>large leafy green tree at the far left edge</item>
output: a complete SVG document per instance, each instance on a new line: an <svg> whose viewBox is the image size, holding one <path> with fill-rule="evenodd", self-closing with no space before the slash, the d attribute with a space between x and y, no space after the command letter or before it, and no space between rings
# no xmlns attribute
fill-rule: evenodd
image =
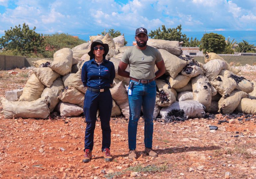
<svg viewBox="0 0 256 179"><path fill-rule="evenodd" d="M0 38L0 46L5 51L12 51L15 55L31 56L42 50L43 37L42 34L35 32L36 27L32 30L25 23L22 28L20 25L5 30L4 36Z"/></svg>

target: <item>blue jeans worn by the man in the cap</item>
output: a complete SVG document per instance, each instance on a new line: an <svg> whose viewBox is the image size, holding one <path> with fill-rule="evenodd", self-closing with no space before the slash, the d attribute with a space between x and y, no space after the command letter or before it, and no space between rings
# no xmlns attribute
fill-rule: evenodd
<svg viewBox="0 0 256 179"><path fill-rule="evenodd" d="M143 107L144 144L146 148L152 148L153 140L153 113L156 103L156 82L148 84L133 82L132 95L128 96L130 107L130 118L128 123L129 149L136 149L136 135L138 120L140 118L141 106Z"/></svg>

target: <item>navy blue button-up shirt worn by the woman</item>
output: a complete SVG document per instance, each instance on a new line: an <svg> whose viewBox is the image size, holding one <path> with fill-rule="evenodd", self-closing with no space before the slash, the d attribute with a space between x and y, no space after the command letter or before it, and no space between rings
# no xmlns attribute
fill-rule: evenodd
<svg viewBox="0 0 256 179"><path fill-rule="evenodd" d="M103 60L98 65L94 58L82 66L82 82L84 87L94 89L110 88L115 78L115 66L112 62Z"/></svg>

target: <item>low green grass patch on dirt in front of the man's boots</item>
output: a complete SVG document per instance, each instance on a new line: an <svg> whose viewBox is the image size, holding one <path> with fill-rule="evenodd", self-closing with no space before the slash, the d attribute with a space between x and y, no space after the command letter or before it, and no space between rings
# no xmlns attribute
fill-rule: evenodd
<svg viewBox="0 0 256 179"><path fill-rule="evenodd" d="M160 166L155 166L155 165L148 165L148 166L141 166L141 165L136 165L136 166L130 166L129 168L126 169L126 171L134 171L134 172L163 172L165 170L167 170L167 166L164 165L160 165Z"/></svg>

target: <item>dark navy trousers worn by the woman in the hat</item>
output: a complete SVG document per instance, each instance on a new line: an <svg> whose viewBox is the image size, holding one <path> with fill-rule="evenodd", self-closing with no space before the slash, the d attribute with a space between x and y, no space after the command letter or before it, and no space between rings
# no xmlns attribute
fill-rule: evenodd
<svg viewBox="0 0 256 179"><path fill-rule="evenodd" d="M93 92L87 90L84 95L83 113L86 121L84 149L93 149L93 136L96 124L97 110L99 110L102 130L102 151L110 149L111 129L110 116L112 110L112 96L110 90L104 92Z"/></svg>

